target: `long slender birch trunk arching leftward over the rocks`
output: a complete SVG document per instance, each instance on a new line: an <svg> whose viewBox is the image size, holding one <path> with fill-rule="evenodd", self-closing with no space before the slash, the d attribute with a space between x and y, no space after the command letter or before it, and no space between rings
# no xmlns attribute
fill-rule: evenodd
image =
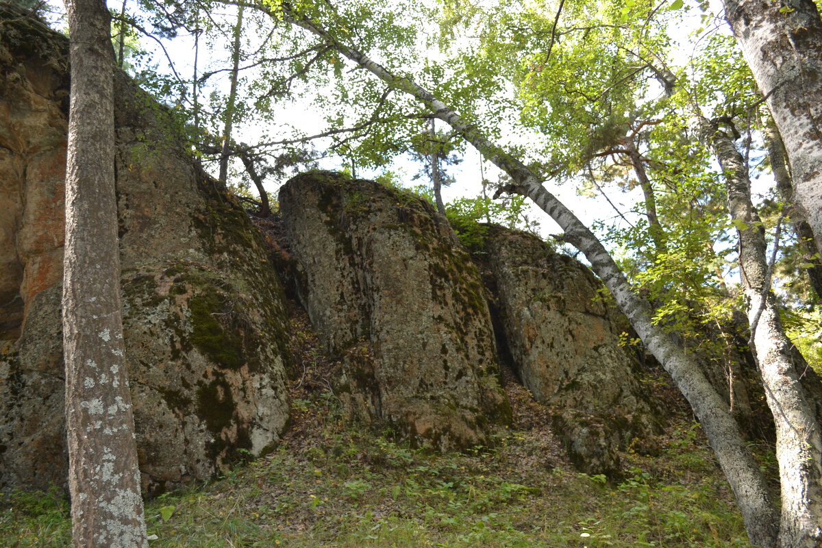
<svg viewBox="0 0 822 548"><path fill-rule="evenodd" d="M327 44L341 55L372 72L395 90L410 94L425 104L434 116L448 123L485 159L511 177L514 185L510 187L510 191L528 196L543 211L551 215L565 231L566 241L580 249L588 258L593 270L612 292L621 311L628 317L645 346L663 364L677 388L688 399L737 497L751 544L761 548L775 546L778 527L776 510L769 500L759 467L748 452L745 440L727 405L696 366L695 361L686 355L674 338L659 326L653 325L649 303L633 291L625 275L597 237L543 187L538 177L524 163L506 154L499 146L488 140L478 127L469 125L430 91L410 78L395 76L356 48L342 44L316 22L300 17L288 4L283 4L283 8L286 21L326 40ZM275 13L271 15L277 16Z"/></svg>

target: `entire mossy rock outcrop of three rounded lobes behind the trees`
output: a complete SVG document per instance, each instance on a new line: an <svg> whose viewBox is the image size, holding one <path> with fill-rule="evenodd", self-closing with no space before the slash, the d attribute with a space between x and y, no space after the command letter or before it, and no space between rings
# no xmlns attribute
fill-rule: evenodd
<svg viewBox="0 0 822 548"><path fill-rule="evenodd" d="M65 481L68 85L66 39L3 21L0 490ZM116 85L124 336L146 490L212 477L283 435L281 275L339 362L330 394L399 440L440 451L494 443L511 421L501 364L586 472L616 470L617 449L655 431L657 410L584 266L500 228L472 257L427 201L325 172L283 187L266 245L180 145L171 114L122 73Z"/></svg>

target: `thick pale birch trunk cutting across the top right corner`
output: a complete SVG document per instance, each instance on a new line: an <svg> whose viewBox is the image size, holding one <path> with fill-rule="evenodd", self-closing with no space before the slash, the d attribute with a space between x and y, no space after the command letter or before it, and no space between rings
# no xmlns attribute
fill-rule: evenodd
<svg viewBox="0 0 822 548"><path fill-rule="evenodd" d="M785 142L797 205L822 252L822 21L812 0L723 0Z"/></svg>

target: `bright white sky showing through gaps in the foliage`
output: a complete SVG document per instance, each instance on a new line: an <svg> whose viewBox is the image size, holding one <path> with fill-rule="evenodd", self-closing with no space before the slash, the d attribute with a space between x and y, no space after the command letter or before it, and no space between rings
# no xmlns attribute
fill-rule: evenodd
<svg viewBox="0 0 822 548"><path fill-rule="evenodd" d="M57 11L62 10L62 5L54 2L50 3ZM547 12L550 12L551 16L556 13L556 4L546 5L544 2L531 0L529 5L533 5L534 7L544 7ZM718 2L718 0L711 0L709 2L709 12L722 14L723 7L721 6L721 2ZM681 25L678 25L676 30L672 30L672 38L679 44L679 48L675 48L672 53L672 62L676 65L684 66L690 61L690 58L693 57L697 45L700 42L700 39L694 35L695 31L705 27L708 20L703 17L705 14L696 7L695 2L686 2L686 10L681 13L683 15ZM228 28L229 25L233 25L236 21L236 9L234 7L225 6L222 11L211 12L210 16L215 18L215 20L224 21ZM562 21L560 20L560 25L561 23ZM728 33L729 29L727 28L727 25L721 23L718 25L718 31ZM184 32L185 31L183 30L183 34L179 35L178 38L171 42L165 41L164 45L178 74L182 78L190 78L193 73L194 39L191 35L184 35ZM252 39L250 39L247 35L244 35L243 38L247 40L247 46L252 48L254 45ZM469 41L466 37L458 37L458 39L461 40L458 44L456 44L459 48L469 47ZM198 72L200 75L202 75L205 71L213 70L214 68L224 69L230 66L229 44L230 39L227 37L218 44L215 44L212 48L201 47L200 57L198 59ZM150 55L153 58L152 62L157 63L159 71L170 73L165 53L157 44L155 44L153 40L143 37L141 38L141 45L150 52ZM423 47L422 43L420 47ZM381 55L379 52L369 51L367 53L375 60L381 60ZM417 63L436 63L438 61L440 61L439 53L437 53L433 48L428 48L426 51L419 52ZM350 65L347 65L344 70L349 70L349 68ZM253 79L253 72L248 72L246 77ZM229 71L224 71L219 75L211 76L208 86L201 89L201 100L204 101L204 107L208 94L211 91L218 92L219 94L225 96L228 93L228 86ZM330 94L331 92L330 90L316 90L316 93ZM314 109L312 103L308 100L285 100L277 104L275 108L278 109L276 127L261 126L261 124L253 120L246 123L240 122L234 128L234 135L236 139L251 144L268 136L274 136L275 139L289 138L291 136L291 128L298 129L298 131L303 135L314 135L327 129L327 123L325 120L327 113ZM440 126L444 129L442 127L444 124L440 124ZM521 132L521 128L516 129ZM510 125L506 127L506 123L503 122L502 136L500 140L501 144L506 145L507 143L527 145L529 140L536 138L536 136L531 135L517 139L515 138L515 133L517 133L517 131L515 131L515 128L510 127ZM330 145L330 140L318 141L316 143L318 150L322 150L323 147L328 145ZM473 148L468 147L464 154L463 162L457 166L450 166L447 169L448 173L455 177L455 183L450 187L443 188L443 198L446 200L446 203L461 197L473 198L480 196L482 192L480 163L481 160L478 152L473 150ZM339 169L342 168L343 165L344 160L340 157L332 156L320 160L321 168ZM398 173L404 173L405 184L409 187L413 187L419 183L424 183L422 180L412 181L413 175L418 173L422 167L422 164L414 163L407 156L399 157L387 166L390 170ZM215 171L214 164L206 164L205 168ZM233 171L235 173L240 169L241 168L238 164L233 167ZM380 173L380 171L381 170L362 170L362 172L358 173L358 177L375 177L378 173ZM482 171L485 179L491 182L496 182L497 178L500 176L500 170L491 163L483 163ZM764 196L767 191L773 187L773 182L769 177L758 177L753 179L752 182L752 191L755 196ZM282 183L284 183L284 180L273 181L269 179L266 181L266 190L276 193ZM553 181L546 181L544 184L548 191L551 191L554 196L569 207L569 209L572 210L588 227L590 227L594 221L600 221L606 225L613 223L624 223L617 211L614 210L614 206L616 206L620 213L624 214L631 222L634 222L641 216L639 212L641 209L640 205L643 200L643 196L639 187L636 187L630 192L608 191L608 198L610 198L613 204L612 206L606 198L599 194L593 197L580 196L576 190L575 183L572 181L565 182L563 184L558 184ZM561 233L561 229L556 225L556 223L554 223L552 219L550 219L542 210L539 210L536 205L530 205L528 215L530 219L537 220L540 223L539 233L542 237L548 237L553 233Z"/></svg>

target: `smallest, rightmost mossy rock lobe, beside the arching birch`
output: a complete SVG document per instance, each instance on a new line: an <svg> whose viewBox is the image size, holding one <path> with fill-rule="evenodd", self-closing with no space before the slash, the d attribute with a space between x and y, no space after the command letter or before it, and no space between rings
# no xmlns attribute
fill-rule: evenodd
<svg viewBox="0 0 822 548"><path fill-rule="evenodd" d="M492 227L485 257L512 362L584 472L619 469L617 449L658 429L658 411L589 269L538 237Z"/></svg>

